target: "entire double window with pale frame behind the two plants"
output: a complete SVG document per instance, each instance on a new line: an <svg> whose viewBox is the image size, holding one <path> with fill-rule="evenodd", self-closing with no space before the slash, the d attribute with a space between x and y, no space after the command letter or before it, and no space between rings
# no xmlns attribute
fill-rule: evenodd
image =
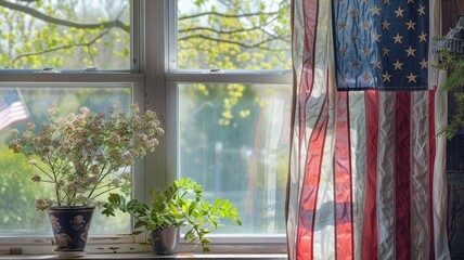
<svg viewBox="0 0 464 260"><path fill-rule="evenodd" d="M215 243L285 247L289 0L10 2L0 3L0 98L18 93L37 122L50 105L66 113L119 101L155 109L166 134L136 162L133 195L147 199L150 188L193 178L207 198L229 198L241 211L243 226L223 223ZM37 245L34 237L51 235L34 208L47 191L34 186L27 165L5 145L9 129L25 123L0 129L0 178L8 181L0 184L0 244L11 247L18 237ZM26 211L18 217L16 209ZM91 237L109 239L94 239L91 251L140 249L118 235L130 231L127 216L95 217ZM37 252L30 248L23 252Z"/></svg>

